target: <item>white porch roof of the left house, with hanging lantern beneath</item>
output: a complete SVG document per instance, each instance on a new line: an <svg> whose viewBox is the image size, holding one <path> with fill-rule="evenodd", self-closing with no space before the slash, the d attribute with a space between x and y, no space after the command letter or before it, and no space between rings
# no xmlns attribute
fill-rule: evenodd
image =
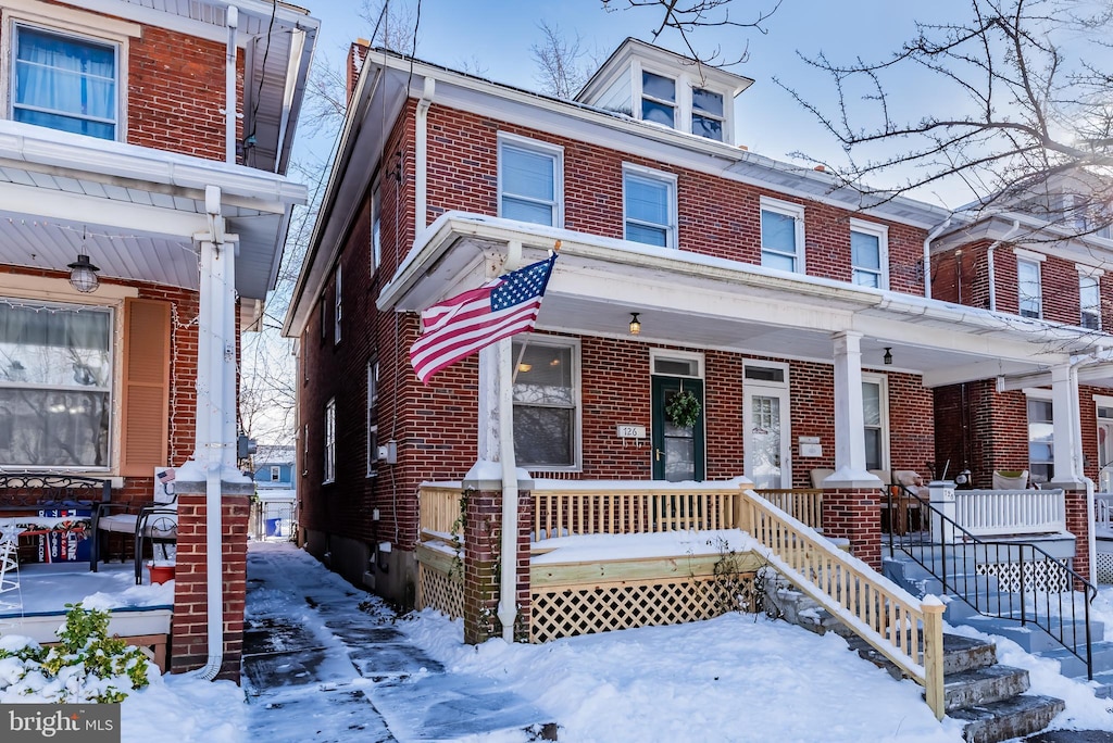
<svg viewBox="0 0 1113 743"><path fill-rule="evenodd" d="M290 207L306 189L225 162L0 121L0 264L67 270L87 254L100 276L198 288L193 235L208 229L205 187L239 236L236 290L273 286Z"/></svg>

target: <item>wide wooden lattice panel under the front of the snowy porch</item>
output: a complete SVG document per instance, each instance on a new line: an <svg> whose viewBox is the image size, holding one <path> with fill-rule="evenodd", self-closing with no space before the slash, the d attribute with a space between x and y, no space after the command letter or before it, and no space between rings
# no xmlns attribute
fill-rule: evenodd
<svg viewBox="0 0 1113 743"><path fill-rule="evenodd" d="M530 642L709 620L755 611L754 575L725 582L712 576L561 586L532 594Z"/></svg>

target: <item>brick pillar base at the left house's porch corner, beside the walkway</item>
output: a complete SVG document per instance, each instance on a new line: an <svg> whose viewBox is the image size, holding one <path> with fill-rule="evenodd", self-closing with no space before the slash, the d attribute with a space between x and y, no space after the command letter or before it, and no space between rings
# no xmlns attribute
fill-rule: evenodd
<svg viewBox="0 0 1113 743"><path fill-rule="evenodd" d="M247 593L247 521L253 483L221 483L224 662L219 678L239 682ZM175 483L178 494L178 549L175 568L170 672L203 667L208 661L208 583L205 483Z"/></svg>

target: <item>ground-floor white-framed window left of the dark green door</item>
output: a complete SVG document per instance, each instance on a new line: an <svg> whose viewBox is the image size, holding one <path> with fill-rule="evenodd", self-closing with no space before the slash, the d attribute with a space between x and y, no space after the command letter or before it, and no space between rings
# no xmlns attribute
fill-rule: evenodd
<svg viewBox="0 0 1113 743"><path fill-rule="evenodd" d="M579 467L579 341L516 336L513 354L514 453L519 465Z"/></svg>

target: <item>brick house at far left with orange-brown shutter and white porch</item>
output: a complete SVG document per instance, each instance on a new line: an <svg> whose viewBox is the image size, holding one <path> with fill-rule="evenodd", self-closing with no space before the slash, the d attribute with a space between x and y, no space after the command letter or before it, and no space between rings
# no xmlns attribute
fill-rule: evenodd
<svg viewBox="0 0 1113 743"><path fill-rule="evenodd" d="M176 467L171 667L236 677L236 355L306 200L285 172L318 26L237 4L0 0L0 467L111 478L122 503Z"/></svg>

